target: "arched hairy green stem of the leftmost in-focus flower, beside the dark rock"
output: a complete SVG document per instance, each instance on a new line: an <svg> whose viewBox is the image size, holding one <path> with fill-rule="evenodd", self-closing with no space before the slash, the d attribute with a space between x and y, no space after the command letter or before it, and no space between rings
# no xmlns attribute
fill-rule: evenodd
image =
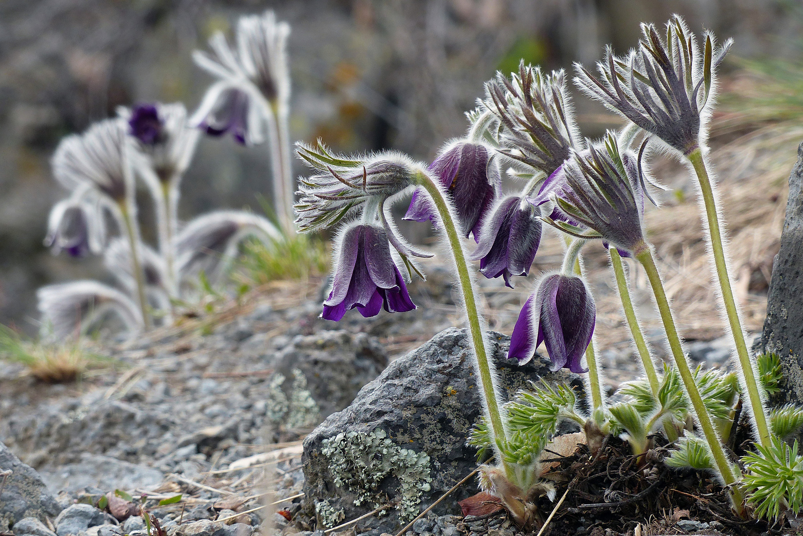
<svg viewBox="0 0 803 536"><path fill-rule="evenodd" d="M469 331L471 331L471 346L474 347L477 369L479 370L479 381L483 388L483 403L485 405L488 422L491 424L491 434L493 435L493 441L491 441L491 443L494 445L496 451L496 459L502 461L504 465L508 480L515 482L515 473L507 462L503 461L502 454L499 452L499 442L505 441L507 439L507 434L499 405L500 396L494 382L495 366L488 357L483 326L479 317L480 309L474 288L474 281L468 270L466 254L463 251L463 244L460 242L460 233L454 225L454 221L457 221L457 217L454 215L454 211L450 209L450 205L448 201L446 201L443 192L438 187L437 181L434 181L429 175L420 171L416 179L418 184L426 189L426 193L430 195L435 209L438 210L438 216L443 226L443 231L446 233L446 240L449 242L449 249L452 254L452 259L454 260L454 268L457 270L460 290L463 294L463 307L466 309L468 327Z"/></svg>

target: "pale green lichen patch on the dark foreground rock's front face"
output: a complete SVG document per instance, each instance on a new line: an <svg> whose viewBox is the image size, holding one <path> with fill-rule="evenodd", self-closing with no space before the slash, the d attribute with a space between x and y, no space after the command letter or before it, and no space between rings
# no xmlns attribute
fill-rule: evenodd
<svg viewBox="0 0 803 536"><path fill-rule="evenodd" d="M388 499L379 487L386 477L395 477L399 518L406 520L418 514L422 494L430 491L430 457L402 449L384 430L340 432L324 439L321 453L329 461L335 485L357 496L355 506L386 504Z"/></svg>

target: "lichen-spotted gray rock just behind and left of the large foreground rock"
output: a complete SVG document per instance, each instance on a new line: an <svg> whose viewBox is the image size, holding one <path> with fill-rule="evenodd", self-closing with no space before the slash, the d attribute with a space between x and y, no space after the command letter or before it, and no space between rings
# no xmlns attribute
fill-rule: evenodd
<svg viewBox="0 0 803 536"><path fill-rule="evenodd" d="M320 416L325 417L351 404L362 386L379 376L387 364L388 355L376 337L321 331L296 336L272 366L287 379L293 378L294 369L303 372ZM282 384L288 400L292 384L289 380Z"/></svg>

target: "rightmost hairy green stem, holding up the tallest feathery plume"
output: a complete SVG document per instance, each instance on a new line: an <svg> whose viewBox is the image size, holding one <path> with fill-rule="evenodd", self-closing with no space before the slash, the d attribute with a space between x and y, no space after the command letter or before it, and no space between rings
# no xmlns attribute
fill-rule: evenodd
<svg viewBox="0 0 803 536"><path fill-rule="evenodd" d="M748 400L750 401L752 422L756 427L759 442L761 445L768 447L771 434L767 414L764 411L764 404L761 400L754 364L750 359L748 345L744 340L744 330L739 319L739 310L736 308L736 300L733 298L731 279L728 276L728 262L725 259L722 234L719 230L719 215L717 214L714 191L711 188L711 180L708 178L703 152L696 148L688 155L688 159L695 168L695 173L697 173L697 179L699 180L700 193L703 195L708 221L708 239L711 241L711 254L714 255L716 275L719 278L719 287L722 290L722 300L725 304L725 311L728 313L728 323L733 334L733 342L736 344L736 354L739 356L739 365L742 372L739 378L742 382L742 388L747 392Z"/></svg>

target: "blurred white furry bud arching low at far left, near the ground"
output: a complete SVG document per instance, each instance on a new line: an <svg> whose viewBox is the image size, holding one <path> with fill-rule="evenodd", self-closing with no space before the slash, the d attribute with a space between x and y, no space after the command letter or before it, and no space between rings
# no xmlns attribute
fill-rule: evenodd
<svg viewBox="0 0 803 536"><path fill-rule="evenodd" d="M86 333L106 315L117 315L129 332L142 328L137 305L125 294L96 281L43 286L36 292L43 332L56 339Z"/></svg>

